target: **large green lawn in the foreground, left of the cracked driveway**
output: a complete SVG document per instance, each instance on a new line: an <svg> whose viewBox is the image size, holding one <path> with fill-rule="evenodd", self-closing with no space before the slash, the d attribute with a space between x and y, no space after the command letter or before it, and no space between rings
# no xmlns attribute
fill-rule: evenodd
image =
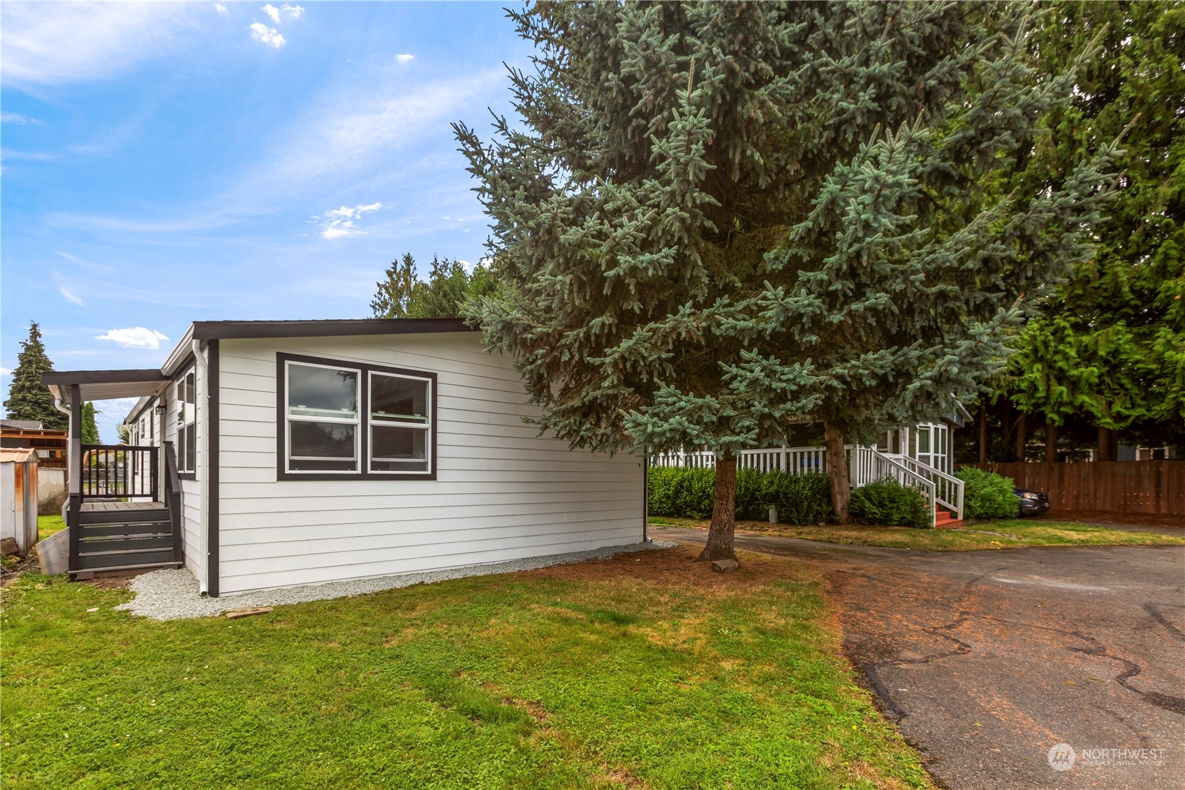
<svg viewBox="0 0 1185 790"><path fill-rule="evenodd" d="M821 591L671 549L159 623L30 575L4 591L0 784L930 786Z"/></svg>

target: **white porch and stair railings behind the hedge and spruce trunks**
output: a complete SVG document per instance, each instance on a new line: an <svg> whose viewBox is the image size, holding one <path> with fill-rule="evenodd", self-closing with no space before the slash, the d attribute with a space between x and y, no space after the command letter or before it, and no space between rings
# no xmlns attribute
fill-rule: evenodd
<svg viewBox="0 0 1185 790"><path fill-rule="evenodd" d="M962 518L963 482L953 474L923 464L909 455L889 455L875 447L845 445L848 463L848 479L852 488L858 489L892 478L904 486L917 489L934 514L940 504ZM716 466L716 453L683 452L662 453L651 457L651 466L684 466L706 469ZM792 474L805 472L826 472L827 452L822 447L766 447L763 450L742 450L737 455L738 469L755 469L758 472L782 471ZM934 516L931 515L931 521Z"/></svg>

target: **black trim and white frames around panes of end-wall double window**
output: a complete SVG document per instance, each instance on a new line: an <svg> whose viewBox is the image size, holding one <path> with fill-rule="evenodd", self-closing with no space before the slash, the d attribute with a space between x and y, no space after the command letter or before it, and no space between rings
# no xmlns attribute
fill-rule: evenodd
<svg viewBox="0 0 1185 790"><path fill-rule="evenodd" d="M352 472L318 470L293 472L288 470L288 363L296 362L310 365L337 368L339 370L357 370L359 375L359 403L356 446L358 448L358 469ZM427 472L383 472L371 470L371 415L370 381L371 374L389 374L429 382L428 426L428 471ZM301 353L276 352L276 479L277 480L435 480L436 479L436 374L427 370L410 370L369 362L352 362L329 357L310 357Z"/></svg>

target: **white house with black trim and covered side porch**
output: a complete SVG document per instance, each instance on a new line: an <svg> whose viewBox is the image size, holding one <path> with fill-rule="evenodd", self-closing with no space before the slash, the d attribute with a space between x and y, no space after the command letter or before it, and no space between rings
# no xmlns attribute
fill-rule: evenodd
<svg viewBox="0 0 1185 790"><path fill-rule="evenodd" d="M43 381L73 415L140 397L85 476L71 426L75 576L184 565L219 595L645 537L642 459L540 437L457 319L198 321L159 370Z"/></svg>

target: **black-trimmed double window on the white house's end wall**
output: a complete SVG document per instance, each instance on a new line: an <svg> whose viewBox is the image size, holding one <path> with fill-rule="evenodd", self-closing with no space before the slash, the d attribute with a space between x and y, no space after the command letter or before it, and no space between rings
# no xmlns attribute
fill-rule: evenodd
<svg viewBox="0 0 1185 790"><path fill-rule="evenodd" d="M435 479L436 376L277 355L281 479Z"/></svg>

